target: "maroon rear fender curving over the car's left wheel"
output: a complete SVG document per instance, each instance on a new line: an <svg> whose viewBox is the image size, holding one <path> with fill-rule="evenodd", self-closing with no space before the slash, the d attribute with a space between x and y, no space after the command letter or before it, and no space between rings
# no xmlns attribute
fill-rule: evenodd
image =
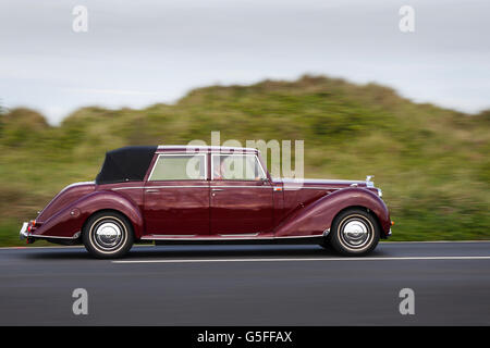
<svg viewBox="0 0 490 348"><path fill-rule="evenodd" d="M139 207L114 191L94 191L58 211L33 231L33 237L76 238L85 221L100 210L115 210L133 224L136 238L143 235L144 220Z"/></svg>

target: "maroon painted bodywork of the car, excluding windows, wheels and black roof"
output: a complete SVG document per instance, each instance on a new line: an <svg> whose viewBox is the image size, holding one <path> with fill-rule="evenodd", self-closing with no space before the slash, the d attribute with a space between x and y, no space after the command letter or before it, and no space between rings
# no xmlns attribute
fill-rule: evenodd
<svg viewBox="0 0 490 348"><path fill-rule="evenodd" d="M308 179L298 186L272 179L269 173L266 181L212 181L210 152L219 150L199 149L208 157L207 179L203 181L148 182L159 153L189 151L186 147L163 147L155 153L143 182L70 185L39 213L34 226L29 223L29 240L79 241L84 223L101 210L124 214L136 240L321 236L339 212L352 207L372 212L381 237L388 236L388 208L377 188L367 187L366 182ZM257 153L264 165L258 151L244 151Z"/></svg>

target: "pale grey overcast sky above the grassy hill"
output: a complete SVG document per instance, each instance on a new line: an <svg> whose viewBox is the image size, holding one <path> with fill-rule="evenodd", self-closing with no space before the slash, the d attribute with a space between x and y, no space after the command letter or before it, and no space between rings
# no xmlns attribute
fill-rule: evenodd
<svg viewBox="0 0 490 348"><path fill-rule="evenodd" d="M404 4L414 33L399 28ZM72 29L75 5L87 33ZM2 0L0 103L57 124L83 105L310 73L478 112L490 108L489 44L488 0Z"/></svg>

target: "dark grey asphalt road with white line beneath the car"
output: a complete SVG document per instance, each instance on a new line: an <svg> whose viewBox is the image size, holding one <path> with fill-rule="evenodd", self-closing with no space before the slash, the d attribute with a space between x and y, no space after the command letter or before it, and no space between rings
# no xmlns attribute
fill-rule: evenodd
<svg viewBox="0 0 490 348"><path fill-rule="evenodd" d="M0 249L0 325L489 325L490 241ZM75 315L72 291L88 291ZM415 314L402 315L402 288Z"/></svg>

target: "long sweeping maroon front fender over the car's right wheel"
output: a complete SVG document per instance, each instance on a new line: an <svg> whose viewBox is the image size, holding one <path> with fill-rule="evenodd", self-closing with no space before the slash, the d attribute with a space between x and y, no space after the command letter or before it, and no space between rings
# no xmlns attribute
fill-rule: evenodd
<svg viewBox="0 0 490 348"><path fill-rule="evenodd" d="M296 210L274 232L277 237L317 236L331 228L333 219L348 207L364 207L380 222L381 234L390 231L390 213L384 202L365 188L343 188Z"/></svg>

